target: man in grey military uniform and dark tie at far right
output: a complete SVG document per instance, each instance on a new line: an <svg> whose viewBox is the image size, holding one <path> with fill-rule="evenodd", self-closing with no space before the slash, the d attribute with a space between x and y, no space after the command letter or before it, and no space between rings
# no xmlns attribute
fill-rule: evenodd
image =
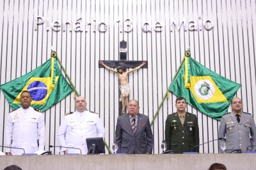
<svg viewBox="0 0 256 170"><path fill-rule="evenodd" d="M235 149L241 149L246 152L248 146L256 145L256 127L253 117L249 113L242 112L243 103L238 97L235 97L230 107L231 113L223 115L220 123L219 138L224 140L226 136L226 153ZM252 136L252 141L250 140ZM250 148L250 147L249 147ZM254 150L254 147L252 148ZM221 153L223 150L221 150Z"/></svg>

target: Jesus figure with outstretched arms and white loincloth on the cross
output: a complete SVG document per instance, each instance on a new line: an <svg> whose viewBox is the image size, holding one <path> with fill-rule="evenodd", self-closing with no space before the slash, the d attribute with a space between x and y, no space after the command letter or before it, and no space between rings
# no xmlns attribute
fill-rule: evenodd
<svg viewBox="0 0 256 170"><path fill-rule="evenodd" d="M140 69L142 66L145 66L146 62L142 62L142 64L134 69L131 69L129 71L125 71L124 67L118 66L115 69L112 69L109 66L106 66L102 61L100 61L100 65L104 66L106 69L109 69L110 71L113 71L114 73L118 74L119 81L120 81L120 101L122 101L122 114L125 114L125 106L127 105L128 96L130 93L130 85L127 81L128 74L132 73L133 71L136 71Z"/></svg>

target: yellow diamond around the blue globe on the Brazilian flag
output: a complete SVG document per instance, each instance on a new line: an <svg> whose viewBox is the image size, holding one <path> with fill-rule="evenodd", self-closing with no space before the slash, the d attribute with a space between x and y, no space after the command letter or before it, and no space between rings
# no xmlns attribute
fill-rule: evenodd
<svg viewBox="0 0 256 170"><path fill-rule="evenodd" d="M55 77L55 84L58 81L58 78L59 76ZM13 103L20 104L20 101L19 101L20 94L24 90L28 90L33 99L31 104L45 104L52 90L54 90L51 88L51 85L52 85L51 77L45 77L45 78L31 77L28 83L26 83L24 88L20 91L19 95L15 98Z"/></svg>

